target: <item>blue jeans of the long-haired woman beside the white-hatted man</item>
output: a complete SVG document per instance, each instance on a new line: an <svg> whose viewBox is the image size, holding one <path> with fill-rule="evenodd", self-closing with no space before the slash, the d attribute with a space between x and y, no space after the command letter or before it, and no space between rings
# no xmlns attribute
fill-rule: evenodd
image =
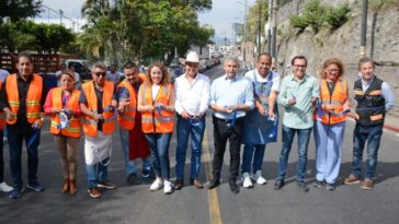
<svg viewBox="0 0 399 224"><path fill-rule="evenodd" d="M169 143L172 133L146 133L145 135L151 149L152 166L157 177L169 180Z"/></svg>

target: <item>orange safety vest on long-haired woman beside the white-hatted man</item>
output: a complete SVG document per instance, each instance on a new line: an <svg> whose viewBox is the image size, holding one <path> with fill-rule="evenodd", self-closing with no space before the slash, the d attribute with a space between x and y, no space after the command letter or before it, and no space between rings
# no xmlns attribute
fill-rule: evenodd
<svg viewBox="0 0 399 224"><path fill-rule="evenodd" d="M169 106L169 99L172 93L172 85L168 86L161 85L158 95L155 101L152 101L152 90L151 86L141 85L139 90L139 95L142 97L145 105L156 106L158 104ZM171 133L173 132L174 125L174 114L173 111L142 111L141 113L141 125L144 133Z"/></svg>

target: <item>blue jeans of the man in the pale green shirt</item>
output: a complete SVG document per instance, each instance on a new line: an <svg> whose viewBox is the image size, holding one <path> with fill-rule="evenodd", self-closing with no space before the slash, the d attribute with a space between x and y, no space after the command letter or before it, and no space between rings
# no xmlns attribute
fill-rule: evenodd
<svg viewBox="0 0 399 224"><path fill-rule="evenodd" d="M305 180L306 164L308 161L308 144L311 133L311 128L295 129L288 128L283 125L283 149L280 154L278 164L278 180L284 180L288 165L288 155L293 144L295 133L298 134L298 166L297 166L297 181Z"/></svg>

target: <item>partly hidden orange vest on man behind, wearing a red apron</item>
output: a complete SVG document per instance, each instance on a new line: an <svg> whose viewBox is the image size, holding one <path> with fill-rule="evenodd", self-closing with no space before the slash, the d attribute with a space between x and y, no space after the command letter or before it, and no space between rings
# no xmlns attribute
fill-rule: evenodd
<svg viewBox="0 0 399 224"><path fill-rule="evenodd" d="M130 104L127 106L127 109L124 114L118 114L117 120L119 121L122 128L126 130L133 130L133 128L135 127L135 117L137 109L136 92L127 80L121 82L118 86L125 87L129 92Z"/></svg>

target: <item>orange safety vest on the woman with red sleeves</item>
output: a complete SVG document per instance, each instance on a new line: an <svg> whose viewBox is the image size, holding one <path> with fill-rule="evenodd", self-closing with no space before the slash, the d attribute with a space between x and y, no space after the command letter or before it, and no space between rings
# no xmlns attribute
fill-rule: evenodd
<svg viewBox="0 0 399 224"><path fill-rule="evenodd" d="M71 109L73 111L79 108L79 98L80 98L80 91L73 90L70 94L66 108ZM53 99L53 107L55 108L62 108L62 89L55 87L52 92L52 99ZM59 134L72 138L80 138L81 134L81 122L80 117L72 116L69 120L69 127L64 129L58 129L60 125L59 115L52 115L52 126L50 126L50 133Z"/></svg>

